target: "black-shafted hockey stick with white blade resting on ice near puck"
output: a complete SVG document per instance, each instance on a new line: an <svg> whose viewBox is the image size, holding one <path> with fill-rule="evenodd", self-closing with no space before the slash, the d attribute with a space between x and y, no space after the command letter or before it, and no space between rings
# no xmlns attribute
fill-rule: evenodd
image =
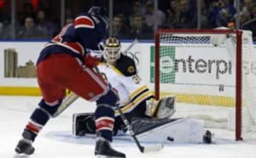
<svg viewBox="0 0 256 158"><path fill-rule="evenodd" d="M121 118L124 121L125 126L127 127L127 129L129 130L129 133L131 135L131 137L133 138L134 142L136 143L136 145L138 146L139 150L141 153L148 153L148 152L157 152L163 149L164 145L163 144L156 144L156 145L151 145L151 146L142 146L140 144L140 142L138 141L136 135L134 134L132 127L129 123L129 121L126 119L123 111L121 110L121 108L119 106L116 106L117 110L120 113Z"/></svg>

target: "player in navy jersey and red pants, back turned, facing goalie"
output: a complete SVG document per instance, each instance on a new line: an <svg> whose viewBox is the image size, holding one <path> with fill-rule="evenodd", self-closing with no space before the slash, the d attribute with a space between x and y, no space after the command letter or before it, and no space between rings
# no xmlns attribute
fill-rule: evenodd
<svg viewBox="0 0 256 158"><path fill-rule="evenodd" d="M106 35L106 17L107 12L102 7L91 7L89 12L76 17L74 23L66 25L41 51L37 60L37 81L43 99L32 113L22 139L15 147L17 157L34 153L32 143L57 111L65 89L88 101L97 102L94 113L97 132L95 155L125 157L110 146L117 92L93 69L98 64L98 56L94 54Z"/></svg>

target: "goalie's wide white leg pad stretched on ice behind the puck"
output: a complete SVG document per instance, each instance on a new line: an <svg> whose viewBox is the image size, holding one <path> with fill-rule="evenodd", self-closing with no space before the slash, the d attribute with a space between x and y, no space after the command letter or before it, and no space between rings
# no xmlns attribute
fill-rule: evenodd
<svg viewBox="0 0 256 158"><path fill-rule="evenodd" d="M132 129L145 143L204 143L203 121L196 119L148 119L132 121Z"/></svg>

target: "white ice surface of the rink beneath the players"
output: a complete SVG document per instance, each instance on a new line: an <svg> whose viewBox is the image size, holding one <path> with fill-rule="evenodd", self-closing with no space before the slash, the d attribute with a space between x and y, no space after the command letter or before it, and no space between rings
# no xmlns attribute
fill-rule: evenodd
<svg viewBox="0 0 256 158"><path fill-rule="evenodd" d="M41 98L31 96L0 96L0 157L10 158L14 147L31 112ZM51 119L36 138L36 151L31 158L82 158L94 157L94 137L73 137L71 135L72 114L94 111L94 104L82 99L77 100L58 118ZM214 130L213 130L214 132ZM127 136L114 139L113 146L126 157L186 157L186 158L255 158L256 142L235 142L227 131L218 131L222 135L215 144L164 144L162 151L141 154ZM221 137L221 136L220 136ZM150 144L143 144L150 145Z"/></svg>

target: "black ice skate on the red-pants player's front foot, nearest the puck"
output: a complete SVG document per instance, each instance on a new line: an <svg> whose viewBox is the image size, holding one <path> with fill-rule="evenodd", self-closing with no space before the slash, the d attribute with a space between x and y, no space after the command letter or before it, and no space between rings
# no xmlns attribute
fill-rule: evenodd
<svg viewBox="0 0 256 158"><path fill-rule="evenodd" d="M111 148L110 143L102 137L96 141L94 155L98 158L125 158L125 154L115 151Z"/></svg>

